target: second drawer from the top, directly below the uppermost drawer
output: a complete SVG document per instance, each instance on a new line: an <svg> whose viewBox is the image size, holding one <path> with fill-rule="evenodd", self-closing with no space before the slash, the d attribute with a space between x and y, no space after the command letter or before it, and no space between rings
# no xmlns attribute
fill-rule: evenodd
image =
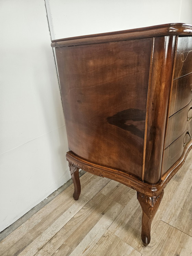
<svg viewBox="0 0 192 256"><path fill-rule="evenodd" d="M189 104L192 99L192 73L173 80L169 116Z"/></svg>

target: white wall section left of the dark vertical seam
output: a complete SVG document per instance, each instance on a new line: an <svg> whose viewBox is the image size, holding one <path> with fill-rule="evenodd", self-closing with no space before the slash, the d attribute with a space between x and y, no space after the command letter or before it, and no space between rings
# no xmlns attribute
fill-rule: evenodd
<svg viewBox="0 0 192 256"><path fill-rule="evenodd" d="M43 0L0 1L0 231L70 178Z"/></svg>

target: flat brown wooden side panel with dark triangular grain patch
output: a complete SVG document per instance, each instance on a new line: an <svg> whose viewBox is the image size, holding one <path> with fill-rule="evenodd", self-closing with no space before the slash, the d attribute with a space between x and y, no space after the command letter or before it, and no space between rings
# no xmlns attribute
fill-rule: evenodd
<svg viewBox="0 0 192 256"><path fill-rule="evenodd" d="M152 38L56 48L70 150L142 178Z"/></svg>

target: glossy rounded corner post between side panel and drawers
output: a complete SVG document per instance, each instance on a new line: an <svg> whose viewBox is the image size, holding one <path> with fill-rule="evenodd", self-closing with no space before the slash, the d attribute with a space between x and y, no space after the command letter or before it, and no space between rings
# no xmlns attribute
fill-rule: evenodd
<svg viewBox="0 0 192 256"><path fill-rule="evenodd" d="M151 184L160 180L174 47L175 36L155 38L144 163L144 181Z"/></svg>

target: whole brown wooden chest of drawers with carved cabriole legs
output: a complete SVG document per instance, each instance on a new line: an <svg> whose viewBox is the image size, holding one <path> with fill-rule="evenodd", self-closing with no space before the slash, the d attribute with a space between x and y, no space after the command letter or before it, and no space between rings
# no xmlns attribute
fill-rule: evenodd
<svg viewBox="0 0 192 256"><path fill-rule="evenodd" d="M164 187L192 147L192 26L64 38L56 48L71 176L79 168L137 191L150 242Z"/></svg>

